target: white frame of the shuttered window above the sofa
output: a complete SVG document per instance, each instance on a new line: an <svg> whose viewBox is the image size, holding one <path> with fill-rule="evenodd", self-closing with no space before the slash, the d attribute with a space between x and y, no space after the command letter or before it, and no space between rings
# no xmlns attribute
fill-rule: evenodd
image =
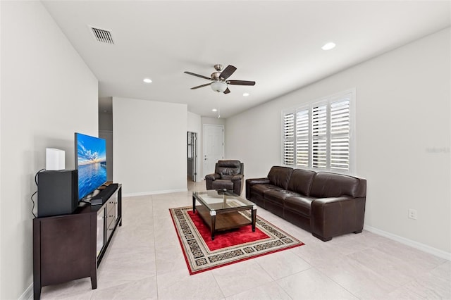
<svg viewBox="0 0 451 300"><path fill-rule="evenodd" d="M333 122L333 120L331 120L331 113L335 113L337 112L336 108L333 108L334 110L332 110L333 104L338 104L342 101L346 101L347 99L349 99L349 135L348 137L346 135L342 135L342 134L335 134L332 135L331 132L331 125L336 126L337 123L331 123ZM314 108L319 108L319 106L326 106L326 118L324 120L321 120L320 123L318 123L318 125L323 126L323 123L326 123L326 132L321 132L322 135L318 136L316 138L314 138L314 132L313 132L313 110ZM346 89L342 92L338 92L335 94L331 94L328 96L323 96L320 99L315 99L312 101L308 101L307 103L304 104L299 104L298 106L292 107L292 108L288 108L288 109L283 109L281 111L281 126L280 126L280 132L281 132L281 143L280 143L280 148L281 148L281 158L280 161L282 163L282 165L287 166L287 167L291 167L291 168L304 168L304 169L308 169L308 170L315 170L315 171L325 171L325 172L334 172L334 173L343 173L343 174L354 174L357 170L357 155L356 155L356 113L355 113L355 106L356 106L356 89L352 88L352 89ZM304 122L305 120L302 120L302 122L298 122L297 118L302 117L303 114L308 114L308 136L307 136L307 142L305 139L305 128L304 128ZM293 115L293 122L292 125L293 127L293 135L292 137L290 137L290 139L287 139L285 137L285 124L286 121L285 120L285 116L286 115ZM321 117L324 117L323 115L321 115ZM297 130L299 130L299 128L297 128L297 125L301 124L302 125L302 135L297 134ZM301 126L299 125L299 127ZM347 127L347 126L345 126ZM322 128L322 127L321 127ZM335 127L334 127L335 128ZM299 137L302 137L301 139L299 139ZM326 157L326 165L325 168L316 168L314 167L314 158L313 158L313 149L314 149L314 141L315 140L319 140L319 141L324 141L324 138L326 139L326 149L323 149L323 156ZM335 139L335 144L333 144L333 139ZM338 149L338 139L337 138L341 138L341 139L347 139L349 138L349 149L347 154L349 155L348 161L349 161L349 169L343 169L343 168L339 168L340 167L340 163L337 163L337 156L340 156L340 154L337 154L335 157L333 156L331 151L334 151L334 153L336 153L336 149ZM292 142L292 164L290 164L291 161L287 160L285 161L285 142L290 141ZM308 159L299 159L298 156L299 154L303 155L300 158L304 157L305 154L304 149L305 146L301 148L297 148L297 145L299 144L299 141L302 141L303 144L308 145L307 146L307 156ZM320 145L320 144L316 144L316 145ZM318 148L319 149L319 148ZM301 151L302 150L302 151ZM346 153L345 153L346 154ZM322 157L321 157L322 158ZM334 159L332 159L334 158ZM305 161L307 161L307 165L305 164ZM320 162L320 160L317 160L316 162ZM333 165L337 166L337 168L334 168Z"/></svg>

